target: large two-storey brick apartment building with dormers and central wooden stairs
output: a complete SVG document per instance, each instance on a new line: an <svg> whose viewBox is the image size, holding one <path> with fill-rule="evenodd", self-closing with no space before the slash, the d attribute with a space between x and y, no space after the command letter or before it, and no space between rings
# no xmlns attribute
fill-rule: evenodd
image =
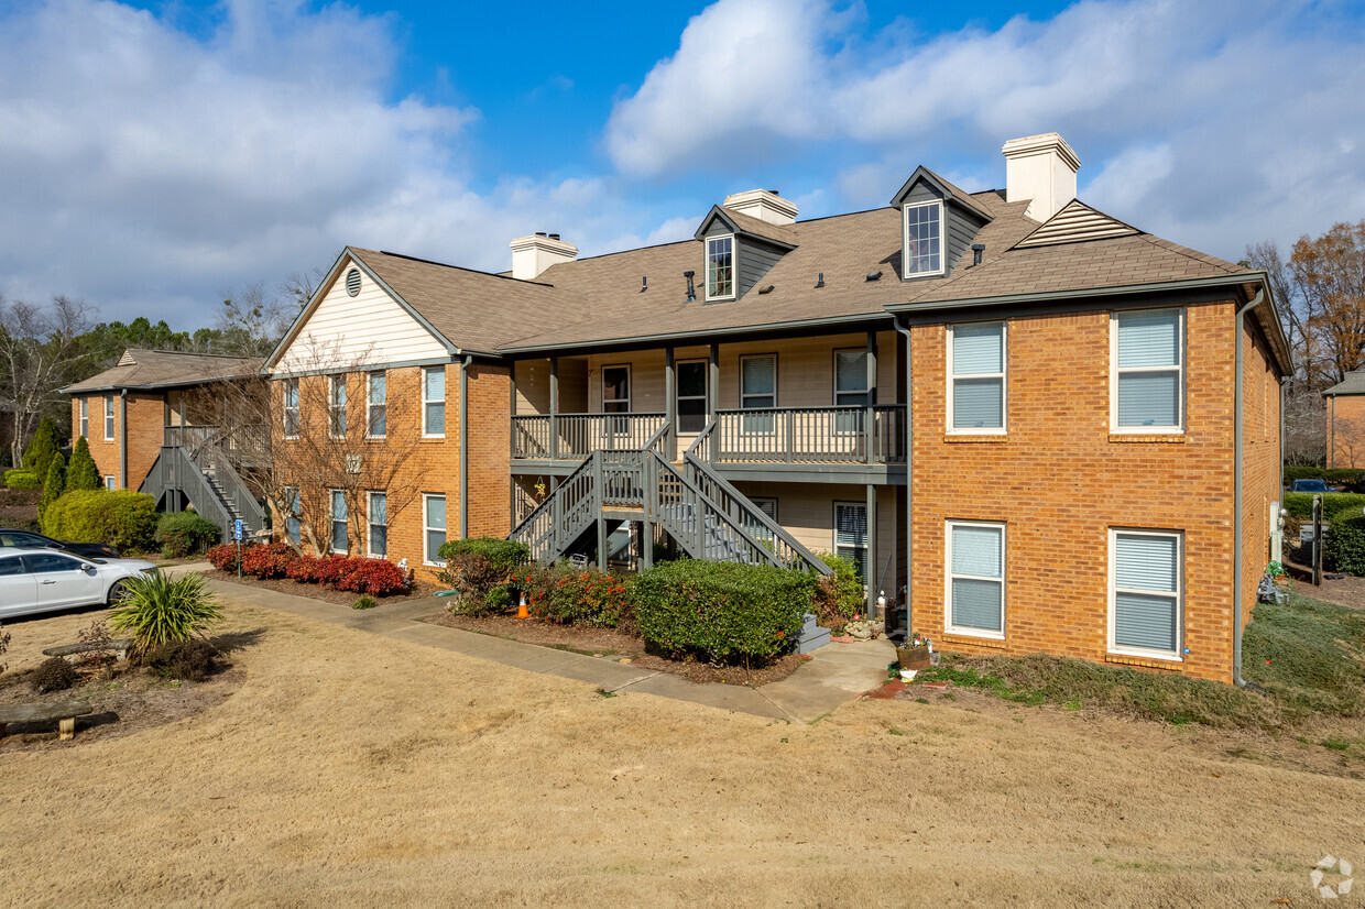
<svg viewBox="0 0 1365 909"><path fill-rule="evenodd" d="M509 274L348 247L266 363L274 450L307 474L302 427L344 414L352 479L298 495L419 571L509 530L602 564L823 550L954 650L1230 681L1291 371L1265 276L1077 201L1055 134L1005 156L1002 191L919 168L796 221L755 190L681 243L519 237Z"/></svg>

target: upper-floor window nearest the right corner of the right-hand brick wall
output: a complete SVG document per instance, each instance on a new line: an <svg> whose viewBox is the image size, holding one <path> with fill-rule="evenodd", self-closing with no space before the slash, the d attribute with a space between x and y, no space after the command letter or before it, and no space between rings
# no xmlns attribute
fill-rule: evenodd
<svg viewBox="0 0 1365 909"><path fill-rule="evenodd" d="M1183 310L1114 313L1110 362L1112 431L1185 431Z"/></svg>

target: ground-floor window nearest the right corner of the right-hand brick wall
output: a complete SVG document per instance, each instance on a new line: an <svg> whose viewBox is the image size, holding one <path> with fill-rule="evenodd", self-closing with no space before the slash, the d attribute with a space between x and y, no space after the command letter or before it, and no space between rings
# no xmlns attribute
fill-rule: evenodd
<svg viewBox="0 0 1365 909"><path fill-rule="evenodd" d="M1171 531L1110 530L1111 652L1181 659L1183 542Z"/></svg>

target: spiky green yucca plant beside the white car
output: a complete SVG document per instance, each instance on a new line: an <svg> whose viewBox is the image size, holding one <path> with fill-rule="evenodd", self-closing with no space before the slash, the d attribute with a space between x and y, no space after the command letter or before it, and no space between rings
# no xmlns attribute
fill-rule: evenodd
<svg viewBox="0 0 1365 909"><path fill-rule="evenodd" d="M222 610L203 577L191 572L171 580L164 572L153 572L124 583L109 625L132 632L134 650L145 654L194 635L203 637L207 628L221 621Z"/></svg>

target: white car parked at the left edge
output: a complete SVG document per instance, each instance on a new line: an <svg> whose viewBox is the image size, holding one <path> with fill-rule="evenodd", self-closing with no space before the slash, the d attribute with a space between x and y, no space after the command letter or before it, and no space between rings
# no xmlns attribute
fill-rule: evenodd
<svg viewBox="0 0 1365 909"><path fill-rule="evenodd" d="M0 618L113 605L130 577L156 571L156 565L141 558L89 560L71 553L0 546Z"/></svg>

